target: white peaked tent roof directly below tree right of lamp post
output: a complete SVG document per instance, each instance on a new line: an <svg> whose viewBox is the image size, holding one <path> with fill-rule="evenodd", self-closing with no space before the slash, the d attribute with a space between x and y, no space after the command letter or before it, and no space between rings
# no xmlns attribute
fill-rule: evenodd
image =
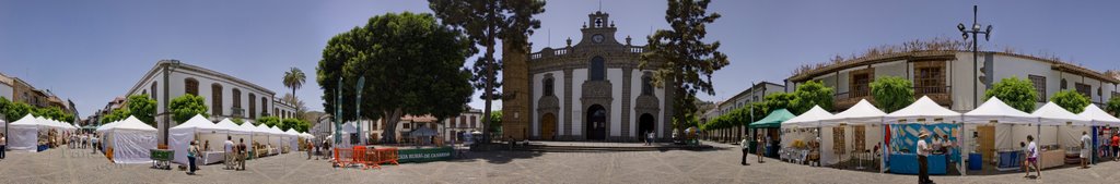
<svg viewBox="0 0 1120 184"><path fill-rule="evenodd" d="M1038 116L1015 109L997 97L991 97L980 107L964 113L964 123L987 124L992 120L1001 124L1037 124Z"/></svg>

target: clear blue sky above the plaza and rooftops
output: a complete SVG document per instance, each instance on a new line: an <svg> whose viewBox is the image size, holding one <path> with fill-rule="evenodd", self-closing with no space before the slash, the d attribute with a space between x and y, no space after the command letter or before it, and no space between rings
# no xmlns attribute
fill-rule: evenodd
<svg viewBox="0 0 1120 184"><path fill-rule="evenodd" d="M579 37L598 0L549 1L534 50ZM822 62L914 39L960 39L956 23L995 25L981 46L1052 52L1095 70L1118 69L1118 1L744 1L717 0L724 14L709 27L731 65L713 76L722 100L752 81L780 83L803 64ZM665 28L665 3L604 0L618 37L645 42ZM85 117L129 87L160 59L179 59L256 83L278 93L289 67L308 74L297 95L323 109L315 66L327 39L385 12L429 12L427 1L15 1L0 0L0 72L73 99ZM551 36L551 37L550 37ZM469 65L469 64L467 64ZM470 106L482 108L482 100ZM500 103L495 103L500 106Z"/></svg>

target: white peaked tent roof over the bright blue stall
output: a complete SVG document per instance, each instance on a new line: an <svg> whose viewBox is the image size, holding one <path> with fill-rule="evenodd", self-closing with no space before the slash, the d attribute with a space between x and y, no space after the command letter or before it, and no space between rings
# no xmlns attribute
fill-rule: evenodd
<svg viewBox="0 0 1120 184"><path fill-rule="evenodd" d="M933 120L939 118L945 120L960 120L961 114L949 108L941 107L941 105L934 103L933 99L930 99L928 96L922 96L922 98L918 98L914 101L914 104L884 116L883 120L886 123L896 123L898 120L917 120L923 118L930 123L934 123Z"/></svg>

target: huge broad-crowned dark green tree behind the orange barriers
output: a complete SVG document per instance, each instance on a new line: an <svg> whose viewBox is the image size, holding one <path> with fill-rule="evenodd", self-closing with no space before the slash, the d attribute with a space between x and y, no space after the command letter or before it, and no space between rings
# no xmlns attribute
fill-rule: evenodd
<svg viewBox="0 0 1120 184"><path fill-rule="evenodd" d="M381 143L396 142L403 115L449 115L470 100L470 71L463 69L473 45L461 32L427 13L386 13L327 42L317 67L326 112L342 104L342 120L356 118L357 79L362 117L386 122ZM336 99L342 80L342 101ZM445 116L446 117L446 116Z"/></svg>

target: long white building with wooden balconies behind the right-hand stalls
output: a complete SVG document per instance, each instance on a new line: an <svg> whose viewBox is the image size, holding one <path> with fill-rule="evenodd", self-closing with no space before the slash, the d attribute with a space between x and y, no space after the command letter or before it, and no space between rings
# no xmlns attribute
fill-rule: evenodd
<svg viewBox="0 0 1120 184"><path fill-rule="evenodd" d="M995 83L1018 77L1038 93L1038 106L1062 90L1076 90L1101 106L1117 96L1120 79L1076 65L1008 52L980 52L973 65L971 51L914 51L892 54L825 66L786 79L787 91L808 80L819 80L836 91L834 110L846 109L870 97L869 84L883 76L914 83L915 97L930 96L953 110L967 112L983 103ZM976 71L977 75L973 75ZM976 87L973 88L973 85Z"/></svg>

